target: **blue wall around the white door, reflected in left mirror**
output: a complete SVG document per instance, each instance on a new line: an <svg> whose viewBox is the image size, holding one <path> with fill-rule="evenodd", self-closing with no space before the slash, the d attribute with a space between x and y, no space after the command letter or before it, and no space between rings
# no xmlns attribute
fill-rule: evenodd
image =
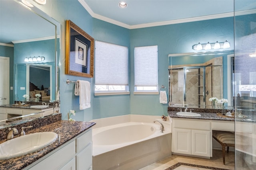
<svg viewBox="0 0 256 170"><path fill-rule="evenodd" d="M10 58L10 87L14 87L14 54L13 47L0 45L0 56ZM14 90L10 90L10 104L13 104Z"/></svg>

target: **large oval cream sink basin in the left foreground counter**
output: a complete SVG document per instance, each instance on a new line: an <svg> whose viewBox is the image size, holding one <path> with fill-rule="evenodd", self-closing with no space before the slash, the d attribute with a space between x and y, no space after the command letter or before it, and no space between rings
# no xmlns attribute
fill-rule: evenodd
<svg viewBox="0 0 256 170"><path fill-rule="evenodd" d="M58 135L54 132L40 132L16 137L0 144L0 160L6 160L17 156L40 150L52 144Z"/></svg>

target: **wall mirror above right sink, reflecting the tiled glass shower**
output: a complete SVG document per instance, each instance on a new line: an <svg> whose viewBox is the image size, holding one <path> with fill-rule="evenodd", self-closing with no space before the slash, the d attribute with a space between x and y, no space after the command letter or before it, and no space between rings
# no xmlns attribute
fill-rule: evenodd
<svg viewBox="0 0 256 170"><path fill-rule="evenodd" d="M209 98L232 99L233 51L170 54L169 106L212 108Z"/></svg>

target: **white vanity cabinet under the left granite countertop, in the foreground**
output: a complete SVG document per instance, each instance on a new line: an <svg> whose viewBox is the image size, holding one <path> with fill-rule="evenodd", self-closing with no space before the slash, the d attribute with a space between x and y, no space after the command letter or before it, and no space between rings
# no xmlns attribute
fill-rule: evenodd
<svg viewBox="0 0 256 170"><path fill-rule="evenodd" d="M32 167L31 167L32 166ZM67 144L40 158L27 170L91 170L92 130L78 135Z"/></svg>

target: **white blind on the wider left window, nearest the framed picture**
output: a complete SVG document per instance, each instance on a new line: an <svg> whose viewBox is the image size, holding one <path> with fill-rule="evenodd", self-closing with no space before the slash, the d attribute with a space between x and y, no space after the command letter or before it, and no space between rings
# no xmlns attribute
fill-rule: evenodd
<svg viewBox="0 0 256 170"><path fill-rule="evenodd" d="M128 85L128 47L95 41L95 84Z"/></svg>

